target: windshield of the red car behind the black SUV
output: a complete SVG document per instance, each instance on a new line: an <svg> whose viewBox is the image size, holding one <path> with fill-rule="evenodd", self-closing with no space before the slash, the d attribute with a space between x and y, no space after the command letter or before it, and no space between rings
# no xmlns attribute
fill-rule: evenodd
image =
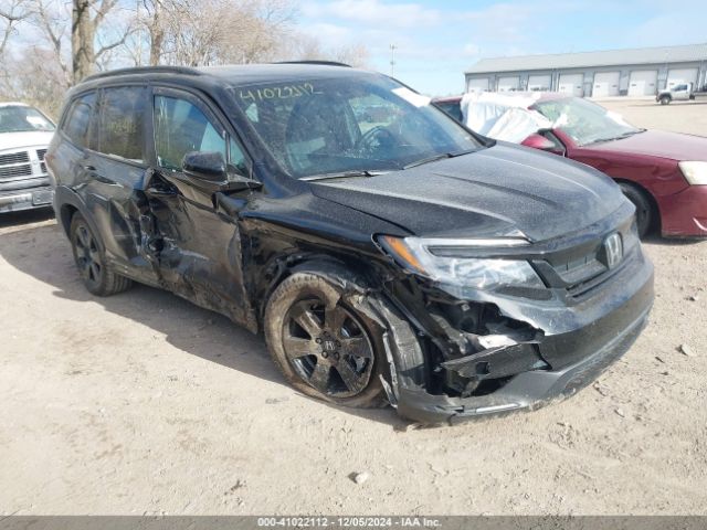
<svg viewBox="0 0 707 530"><path fill-rule="evenodd" d="M578 146L624 138L643 130L626 124L621 116L579 97L538 102L532 108L556 123Z"/></svg>

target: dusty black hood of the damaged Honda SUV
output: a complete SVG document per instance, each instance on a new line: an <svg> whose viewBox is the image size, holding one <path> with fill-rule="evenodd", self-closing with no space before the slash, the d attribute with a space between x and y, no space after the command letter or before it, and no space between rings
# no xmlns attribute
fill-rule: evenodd
<svg viewBox="0 0 707 530"><path fill-rule="evenodd" d="M500 142L403 171L312 184L317 197L428 237L520 231L544 241L595 223L625 201L588 166Z"/></svg>

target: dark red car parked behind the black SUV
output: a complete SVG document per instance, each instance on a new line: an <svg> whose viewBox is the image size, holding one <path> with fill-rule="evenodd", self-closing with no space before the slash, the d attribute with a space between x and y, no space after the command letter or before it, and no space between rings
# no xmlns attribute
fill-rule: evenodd
<svg viewBox="0 0 707 530"><path fill-rule="evenodd" d="M527 96L527 95L526 95ZM587 99L535 95L528 107L556 125L523 145L592 166L612 177L636 206L643 236L707 237L707 138L633 127ZM462 97L433 103L455 119Z"/></svg>

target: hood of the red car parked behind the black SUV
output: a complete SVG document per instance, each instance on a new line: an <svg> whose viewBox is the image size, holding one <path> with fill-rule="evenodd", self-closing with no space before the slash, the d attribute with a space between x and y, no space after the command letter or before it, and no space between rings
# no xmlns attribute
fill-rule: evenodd
<svg viewBox="0 0 707 530"><path fill-rule="evenodd" d="M621 140L588 146L592 151L647 155L669 160L707 160L707 138L666 130L646 130Z"/></svg>

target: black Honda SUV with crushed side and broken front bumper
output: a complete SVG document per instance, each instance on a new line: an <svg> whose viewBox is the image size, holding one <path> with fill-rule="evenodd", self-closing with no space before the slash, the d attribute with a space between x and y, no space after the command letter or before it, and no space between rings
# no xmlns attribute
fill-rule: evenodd
<svg viewBox="0 0 707 530"><path fill-rule="evenodd" d="M285 379L425 423L531 409L623 354L653 267L602 173L381 74L149 67L73 88L46 156L86 288L262 331Z"/></svg>

